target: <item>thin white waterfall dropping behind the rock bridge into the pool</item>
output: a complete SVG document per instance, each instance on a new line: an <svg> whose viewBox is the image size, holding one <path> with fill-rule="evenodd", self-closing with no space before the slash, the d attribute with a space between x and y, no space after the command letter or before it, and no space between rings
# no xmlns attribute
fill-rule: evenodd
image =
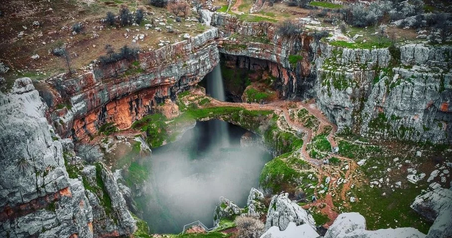
<svg viewBox="0 0 452 238"><path fill-rule="evenodd" d="M207 92L215 99L226 101L225 87L223 85L223 77L220 65L217 65L214 70L207 75ZM212 130L213 135L218 135L212 140L219 148L229 146L229 131L227 130L227 123L218 120L212 120L209 123L209 129Z"/></svg>

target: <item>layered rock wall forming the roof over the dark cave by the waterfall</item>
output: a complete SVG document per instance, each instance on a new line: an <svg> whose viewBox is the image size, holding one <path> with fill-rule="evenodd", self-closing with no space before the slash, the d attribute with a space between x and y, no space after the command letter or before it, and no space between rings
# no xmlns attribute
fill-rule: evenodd
<svg viewBox="0 0 452 238"><path fill-rule="evenodd" d="M214 14L212 25L219 28L219 51L226 56L226 63L230 66L268 71L278 79L276 87L284 98L297 94L312 96L308 90L304 90L312 87L314 81L309 63L312 58L309 55L311 36L281 37L277 34L277 26L271 23L244 22L222 13ZM303 59L291 64L291 55L301 55Z"/></svg>

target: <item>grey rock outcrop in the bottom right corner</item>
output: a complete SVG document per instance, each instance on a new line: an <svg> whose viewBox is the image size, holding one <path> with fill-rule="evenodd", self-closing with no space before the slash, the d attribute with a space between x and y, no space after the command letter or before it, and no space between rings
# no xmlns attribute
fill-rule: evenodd
<svg viewBox="0 0 452 238"><path fill-rule="evenodd" d="M427 238L452 237L452 190L438 183L429 186L430 191L419 195L411 204L417 213L433 222Z"/></svg>

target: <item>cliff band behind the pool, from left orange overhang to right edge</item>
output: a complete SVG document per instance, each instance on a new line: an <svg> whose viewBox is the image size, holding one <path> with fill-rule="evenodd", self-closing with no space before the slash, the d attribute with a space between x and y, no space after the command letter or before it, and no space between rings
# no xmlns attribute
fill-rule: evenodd
<svg viewBox="0 0 452 238"><path fill-rule="evenodd" d="M339 132L452 141L449 46L348 49L315 34L279 36L271 23L243 22L228 14L214 14L211 24L217 28L140 53L134 63L95 65L81 76L37 85L57 132L83 140L107 122L128 129L165 98L174 99L203 79L221 54L229 66L268 72L284 99L316 98Z"/></svg>

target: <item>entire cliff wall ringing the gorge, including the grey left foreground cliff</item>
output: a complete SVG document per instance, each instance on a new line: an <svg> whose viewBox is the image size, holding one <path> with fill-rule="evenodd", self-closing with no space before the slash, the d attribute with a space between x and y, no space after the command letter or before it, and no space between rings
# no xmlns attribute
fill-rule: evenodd
<svg viewBox="0 0 452 238"><path fill-rule="evenodd" d="M35 83L38 90L30 79L17 79L0 94L0 237L133 233L135 221L109 169L85 165L72 141L58 135L86 140L107 122L128 129L196 85L220 54L239 68L270 72L284 98L315 97L339 131L452 142L450 46L346 49L306 34L281 37L270 23L227 14L215 14L212 25L140 53L136 62L94 65L82 75Z"/></svg>

